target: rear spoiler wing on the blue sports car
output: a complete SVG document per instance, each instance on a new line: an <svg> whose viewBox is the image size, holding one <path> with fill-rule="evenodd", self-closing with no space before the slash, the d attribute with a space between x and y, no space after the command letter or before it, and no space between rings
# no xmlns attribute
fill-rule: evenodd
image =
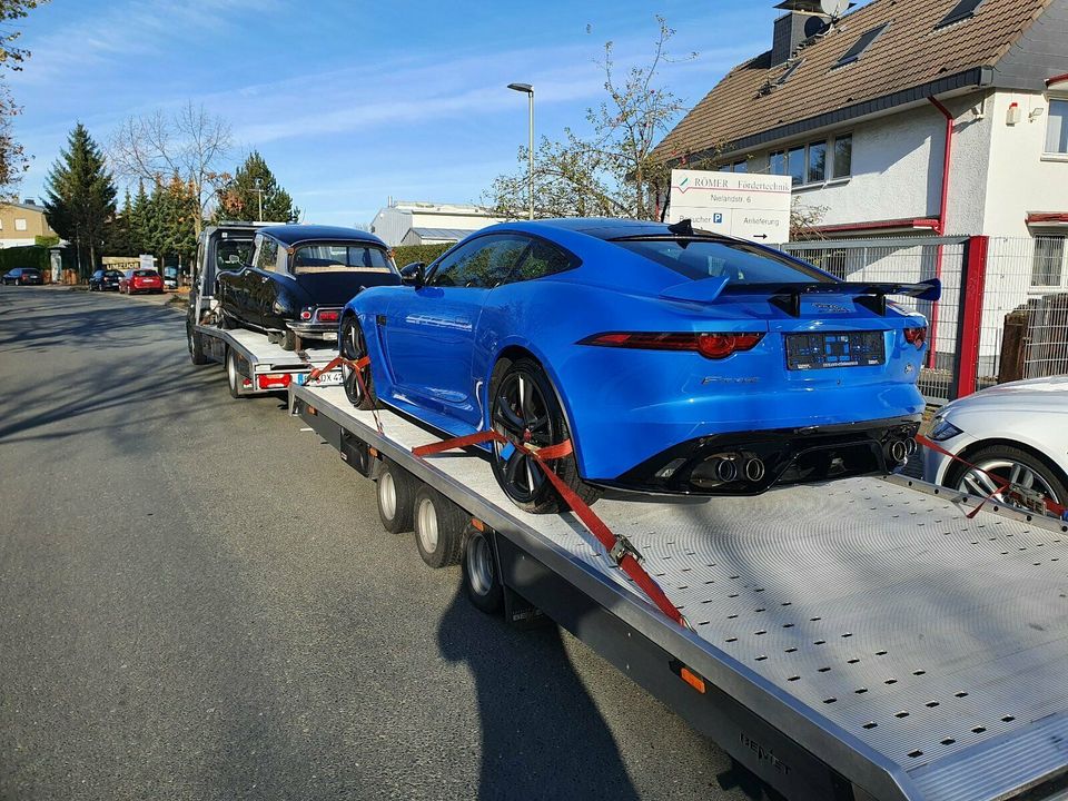
<svg viewBox="0 0 1068 801"><path fill-rule="evenodd" d="M791 317L801 316L802 295L852 295L853 300L878 315L887 314L888 295L906 295L919 300L938 300L942 283L938 278L919 284L870 281L808 281L801 284L731 284L724 276L675 284L660 296L669 300L712 303L720 295L763 295Z"/></svg>

